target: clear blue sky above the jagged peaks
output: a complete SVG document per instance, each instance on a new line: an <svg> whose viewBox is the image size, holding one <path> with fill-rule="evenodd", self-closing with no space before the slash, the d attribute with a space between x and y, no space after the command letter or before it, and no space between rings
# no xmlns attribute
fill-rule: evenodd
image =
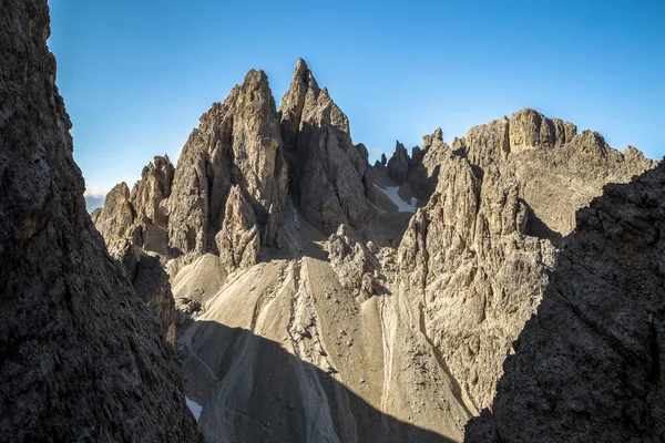
<svg viewBox="0 0 665 443"><path fill-rule="evenodd" d="M298 58L376 158L534 107L665 154L665 1L50 0L58 85L89 188L175 161L247 70L277 105Z"/></svg>

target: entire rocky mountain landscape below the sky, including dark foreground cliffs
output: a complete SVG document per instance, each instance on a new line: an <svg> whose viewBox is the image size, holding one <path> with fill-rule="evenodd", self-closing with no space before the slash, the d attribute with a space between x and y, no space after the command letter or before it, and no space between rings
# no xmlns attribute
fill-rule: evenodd
<svg viewBox="0 0 665 443"><path fill-rule="evenodd" d="M298 60L279 109L249 71L89 215L47 3L0 21L0 440L665 433L665 171L636 148L524 109L371 165Z"/></svg>

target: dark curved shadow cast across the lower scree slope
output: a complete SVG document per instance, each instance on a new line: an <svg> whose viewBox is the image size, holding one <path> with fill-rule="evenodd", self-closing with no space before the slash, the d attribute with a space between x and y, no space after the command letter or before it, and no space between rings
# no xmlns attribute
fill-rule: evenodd
<svg viewBox="0 0 665 443"><path fill-rule="evenodd" d="M335 379L335 368L323 371L277 342L213 321L192 328L185 385L203 405L207 442L452 442L381 413Z"/></svg>

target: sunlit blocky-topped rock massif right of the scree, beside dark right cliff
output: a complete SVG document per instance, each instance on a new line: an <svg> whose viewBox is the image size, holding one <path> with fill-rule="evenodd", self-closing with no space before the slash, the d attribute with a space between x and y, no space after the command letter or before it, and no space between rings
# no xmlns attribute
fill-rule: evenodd
<svg viewBox="0 0 665 443"><path fill-rule="evenodd" d="M438 185L400 244L401 281L470 410L491 403L575 209L607 181L626 182L652 166L590 132L546 122L556 121L524 110L471 128L453 147L437 133L423 143ZM541 136L544 125L563 130Z"/></svg>

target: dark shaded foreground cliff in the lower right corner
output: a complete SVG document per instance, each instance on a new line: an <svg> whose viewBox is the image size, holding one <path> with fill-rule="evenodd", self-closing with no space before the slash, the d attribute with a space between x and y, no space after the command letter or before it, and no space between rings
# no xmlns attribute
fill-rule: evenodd
<svg viewBox="0 0 665 443"><path fill-rule="evenodd" d="M665 166L577 213L543 301L469 442L665 435Z"/></svg>

